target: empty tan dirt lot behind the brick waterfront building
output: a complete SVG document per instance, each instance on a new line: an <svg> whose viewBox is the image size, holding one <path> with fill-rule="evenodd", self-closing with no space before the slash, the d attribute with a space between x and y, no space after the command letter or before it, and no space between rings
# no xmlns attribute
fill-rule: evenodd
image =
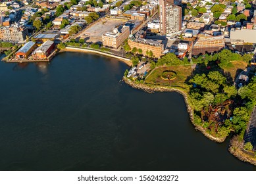
<svg viewBox="0 0 256 184"><path fill-rule="evenodd" d="M104 18L90 28L86 28L79 36L82 39L86 38L87 42L102 42L101 35L105 34L106 32L112 32L113 28L122 24L124 24L124 22L120 20L110 20Z"/></svg>

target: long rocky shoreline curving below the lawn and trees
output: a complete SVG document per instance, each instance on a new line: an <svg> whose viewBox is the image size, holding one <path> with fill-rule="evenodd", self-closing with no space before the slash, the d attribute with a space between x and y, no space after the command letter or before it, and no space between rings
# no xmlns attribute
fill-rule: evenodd
<svg viewBox="0 0 256 184"><path fill-rule="evenodd" d="M141 89L147 93L154 93L154 92L177 92L180 93L183 97L184 97L184 101L186 103L187 106L187 110L188 110L188 114L190 115L190 121L192 122L193 126L195 126L195 129L201 131L201 133L203 133L203 135L205 135L205 137L207 137L208 139L210 139L211 141L215 141L217 143L222 143L225 141L225 138L218 138L218 137L214 137L213 135L207 133L207 131L205 131L205 129L201 126L198 126L197 124L194 123L194 119L193 119L193 110L190 106L190 104L188 103L188 96L187 94L180 90L180 89L176 89L176 88L166 88L166 87L149 87L145 84L136 84L133 81L129 80L128 78L123 78L122 79L125 83L127 83L128 85L130 85L131 87L134 87L136 89Z"/></svg>

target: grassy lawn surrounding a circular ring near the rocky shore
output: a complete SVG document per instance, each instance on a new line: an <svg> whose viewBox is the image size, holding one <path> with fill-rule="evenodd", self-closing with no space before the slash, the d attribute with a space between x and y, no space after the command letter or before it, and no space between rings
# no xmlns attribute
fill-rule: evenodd
<svg viewBox="0 0 256 184"><path fill-rule="evenodd" d="M174 80L166 81L161 78L161 74L164 71L176 72L176 78ZM187 87L185 84L188 76L192 74L193 68L191 66L165 66L156 68L145 80L145 83L158 84L166 86L180 86Z"/></svg>

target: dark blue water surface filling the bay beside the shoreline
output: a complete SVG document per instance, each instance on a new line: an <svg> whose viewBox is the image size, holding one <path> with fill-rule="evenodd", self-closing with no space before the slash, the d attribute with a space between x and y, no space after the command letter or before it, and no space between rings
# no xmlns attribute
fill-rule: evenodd
<svg viewBox="0 0 256 184"><path fill-rule="evenodd" d="M256 170L195 131L183 97L120 82L126 64L61 53L0 63L0 170Z"/></svg>

